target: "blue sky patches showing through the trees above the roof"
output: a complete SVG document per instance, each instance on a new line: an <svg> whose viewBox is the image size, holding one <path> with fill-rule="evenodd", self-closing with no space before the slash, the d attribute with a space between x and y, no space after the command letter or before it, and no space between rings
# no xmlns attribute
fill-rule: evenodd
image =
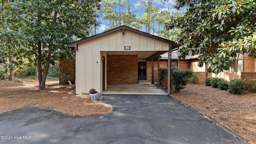
<svg viewBox="0 0 256 144"><path fill-rule="evenodd" d="M143 1L147 1L147 0L143 0ZM141 4L139 1L136 2L136 6L139 7ZM157 6L161 6L161 1L160 0L153 0L153 5L157 5ZM164 8L163 10L169 10L170 12L176 12L177 10L172 8L174 5L174 2L172 0L168 0L166 1L166 3L164 4ZM144 14L144 10L141 10L139 13L139 16L142 16L142 14ZM101 19L99 19L101 20ZM106 30L106 25L104 24L104 20L101 20L102 24L100 24L100 28L97 31L97 33L101 33L104 32Z"/></svg>

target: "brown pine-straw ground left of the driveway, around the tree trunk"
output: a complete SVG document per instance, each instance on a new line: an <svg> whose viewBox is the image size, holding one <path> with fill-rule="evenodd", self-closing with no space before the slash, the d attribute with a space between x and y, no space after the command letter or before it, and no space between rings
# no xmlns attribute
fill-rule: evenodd
<svg viewBox="0 0 256 144"><path fill-rule="evenodd" d="M31 105L41 105L72 116L110 112L112 107L90 99L90 95L76 95L74 86L58 85L46 80L47 90L38 90L38 80L0 81L0 113ZM52 85L52 86L49 86Z"/></svg>

